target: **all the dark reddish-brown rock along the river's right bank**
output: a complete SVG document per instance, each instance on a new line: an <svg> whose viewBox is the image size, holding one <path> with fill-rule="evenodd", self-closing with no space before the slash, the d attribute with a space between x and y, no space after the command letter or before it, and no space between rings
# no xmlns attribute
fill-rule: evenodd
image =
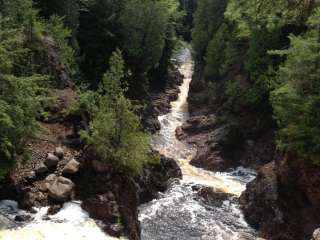
<svg viewBox="0 0 320 240"><path fill-rule="evenodd" d="M196 68L189 96L191 118L176 132L179 139L197 146L191 163L211 171L240 165L257 169L257 178L240 198L247 221L266 239L311 239L320 226L319 167L276 152L271 114L261 117L241 105L234 109L226 104L223 91L208 101L201 75Z"/></svg>

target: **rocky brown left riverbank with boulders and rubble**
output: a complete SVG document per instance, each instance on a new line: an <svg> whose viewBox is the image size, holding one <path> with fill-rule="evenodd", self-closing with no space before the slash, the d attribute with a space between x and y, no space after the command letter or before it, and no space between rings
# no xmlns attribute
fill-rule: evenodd
<svg viewBox="0 0 320 240"><path fill-rule="evenodd" d="M148 118L144 122L151 132L157 131L158 115L170 111L170 102L178 98L182 79L177 67L173 67L164 91L151 94L145 113ZM17 211L26 210L21 210L23 214L5 211L2 222L7 227L4 228L24 228L35 221L39 222L40 229L42 224L55 225L55 215L63 211L66 202L76 199L87 212L86 218L102 223L97 228L111 236L140 239L139 204L151 201L159 191L165 191L170 178L181 178L179 167L174 160L158 156L159 163L146 166L142 175L133 179L100 163L93 151L83 148L79 139L77 131L79 126L87 124L85 119L69 114L76 97L73 86L67 83L59 88L52 86L50 96L56 101L48 108L47 118L39 119L43 131L29 142L30 160L18 160L15 169L0 184L0 200L14 200ZM36 219L38 216L34 214L39 209L48 213ZM76 221L83 221L83 218L80 214ZM59 221L68 225L67 219Z"/></svg>

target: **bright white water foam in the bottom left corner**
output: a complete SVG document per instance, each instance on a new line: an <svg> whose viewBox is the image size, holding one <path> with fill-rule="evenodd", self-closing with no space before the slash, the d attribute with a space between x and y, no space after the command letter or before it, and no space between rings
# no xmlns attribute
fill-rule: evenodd
<svg viewBox="0 0 320 240"><path fill-rule="evenodd" d="M47 216L48 207L37 209L31 214L20 210L14 201L1 201L0 212L8 223L18 215L30 215L33 220L15 228L0 229L1 240L112 240L97 223L80 207L80 202L69 202L55 215ZM11 222L12 223L12 222ZM10 226L12 227L12 226Z"/></svg>

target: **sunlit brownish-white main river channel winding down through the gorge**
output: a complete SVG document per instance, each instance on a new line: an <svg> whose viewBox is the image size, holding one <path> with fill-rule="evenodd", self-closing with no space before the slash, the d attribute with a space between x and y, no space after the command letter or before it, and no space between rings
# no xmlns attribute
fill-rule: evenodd
<svg viewBox="0 0 320 240"><path fill-rule="evenodd" d="M186 49L180 56L180 71L185 76L177 101L170 113L160 116L161 130L153 136L152 146L175 159L183 173L182 181L173 181L169 189L150 203L140 207L142 240L241 240L256 239L256 233L243 218L238 196L255 172L238 168L225 173L212 173L189 164L195 148L177 140L175 130L188 118L188 92L193 62ZM231 194L221 204L207 205L193 186L208 186Z"/></svg>

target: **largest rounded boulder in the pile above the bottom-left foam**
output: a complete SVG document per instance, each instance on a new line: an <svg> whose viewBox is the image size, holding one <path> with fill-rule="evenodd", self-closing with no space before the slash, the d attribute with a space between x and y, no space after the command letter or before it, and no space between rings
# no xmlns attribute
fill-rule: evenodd
<svg viewBox="0 0 320 240"><path fill-rule="evenodd" d="M58 177L48 187L48 192L52 199L64 202L70 198L73 189L74 183L70 179Z"/></svg>

